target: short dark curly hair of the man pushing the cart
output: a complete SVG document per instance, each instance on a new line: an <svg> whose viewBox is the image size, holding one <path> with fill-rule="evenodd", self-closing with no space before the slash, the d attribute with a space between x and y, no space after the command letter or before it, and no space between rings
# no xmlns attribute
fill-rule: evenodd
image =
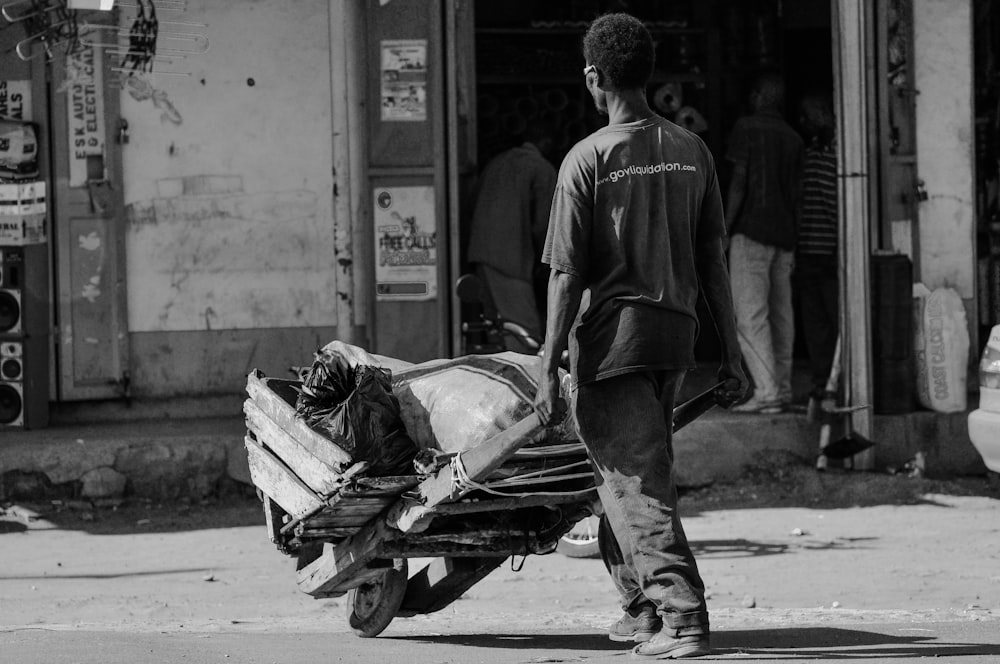
<svg viewBox="0 0 1000 664"><path fill-rule="evenodd" d="M653 38L642 21L624 13L594 19L583 37L583 57L616 90L645 87L653 75Z"/></svg>

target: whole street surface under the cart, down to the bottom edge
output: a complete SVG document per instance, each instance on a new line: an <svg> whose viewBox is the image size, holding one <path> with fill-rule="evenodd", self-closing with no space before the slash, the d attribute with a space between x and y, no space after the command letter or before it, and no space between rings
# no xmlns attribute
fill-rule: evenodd
<svg viewBox="0 0 1000 664"><path fill-rule="evenodd" d="M719 658L1000 660L1000 500L685 508ZM9 506L0 526L4 662L631 659L604 636L617 615L599 560L505 563L443 611L359 639L344 599L297 589L250 500Z"/></svg>

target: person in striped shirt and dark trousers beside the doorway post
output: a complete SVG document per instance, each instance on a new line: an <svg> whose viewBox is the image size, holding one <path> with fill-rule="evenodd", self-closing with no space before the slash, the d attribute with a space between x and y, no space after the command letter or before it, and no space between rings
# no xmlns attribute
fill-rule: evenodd
<svg viewBox="0 0 1000 664"><path fill-rule="evenodd" d="M802 219L795 259L796 306L802 320L812 392L823 400L840 328L837 266L837 145L829 95L809 94L801 102L806 137L802 168Z"/></svg>

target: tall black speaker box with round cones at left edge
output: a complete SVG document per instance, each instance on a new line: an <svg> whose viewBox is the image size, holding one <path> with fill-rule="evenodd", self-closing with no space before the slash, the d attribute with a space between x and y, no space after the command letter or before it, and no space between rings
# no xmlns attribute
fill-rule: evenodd
<svg viewBox="0 0 1000 664"><path fill-rule="evenodd" d="M0 246L0 429L48 425L47 249Z"/></svg>

